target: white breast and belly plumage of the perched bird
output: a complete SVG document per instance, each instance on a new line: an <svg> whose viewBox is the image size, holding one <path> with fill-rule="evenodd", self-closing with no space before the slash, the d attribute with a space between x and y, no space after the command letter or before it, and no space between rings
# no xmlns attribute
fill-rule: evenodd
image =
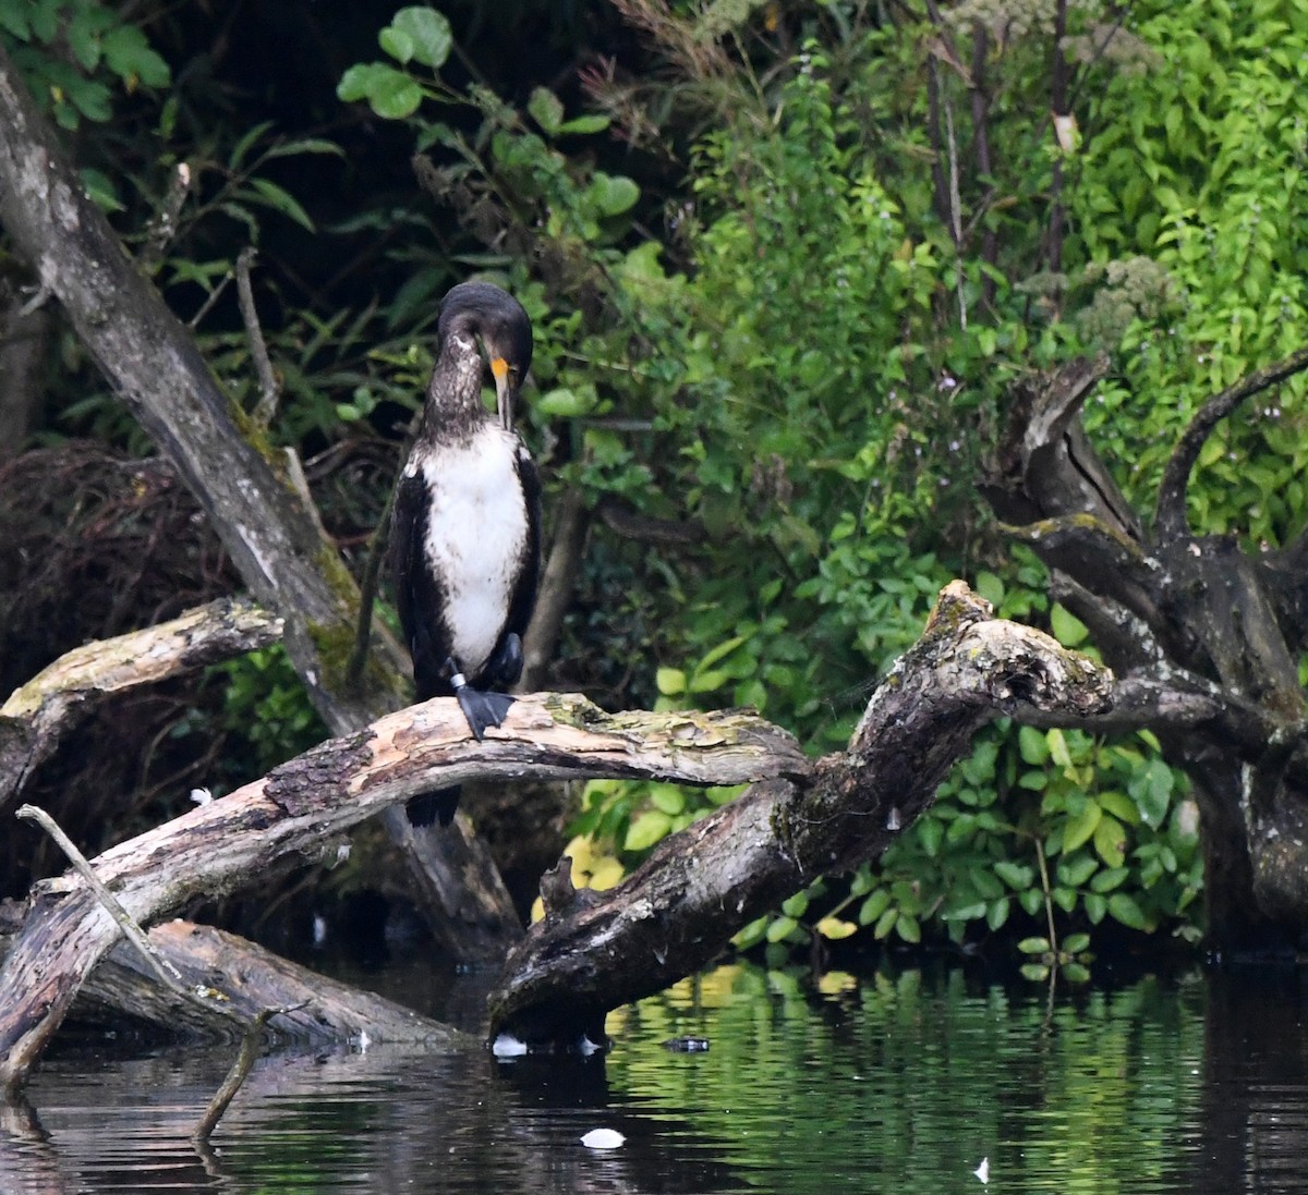
<svg viewBox="0 0 1308 1195"><path fill-rule="evenodd" d="M517 437L488 424L470 443L442 445L422 463L432 493L426 557L449 595L451 647L468 676L494 651L527 541L517 454Z"/></svg>

